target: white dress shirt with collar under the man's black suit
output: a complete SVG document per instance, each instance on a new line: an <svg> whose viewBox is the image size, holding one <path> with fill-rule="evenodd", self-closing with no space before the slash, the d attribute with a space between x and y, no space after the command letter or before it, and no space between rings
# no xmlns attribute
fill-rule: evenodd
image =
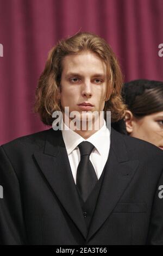
<svg viewBox="0 0 163 256"><path fill-rule="evenodd" d="M83 141L91 142L95 146L95 148L91 152L90 161L95 169L97 179L99 179L103 172L105 163L108 159L110 149L110 131L108 127L106 127L105 120L101 129L96 131L87 139L84 139L78 133L71 130L69 127L67 127L66 124L64 125L67 130L62 130L62 137L64 139L75 184L77 168L80 162L80 151L78 145Z"/></svg>

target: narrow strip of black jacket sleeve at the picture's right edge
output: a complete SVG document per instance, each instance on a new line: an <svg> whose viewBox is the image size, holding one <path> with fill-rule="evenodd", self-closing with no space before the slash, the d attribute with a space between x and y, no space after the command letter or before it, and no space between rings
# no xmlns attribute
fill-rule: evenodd
<svg viewBox="0 0 163 256"><path fill-rule="evenodd" d="M148 244L163 245L163 170L155 191Z"/></svg>

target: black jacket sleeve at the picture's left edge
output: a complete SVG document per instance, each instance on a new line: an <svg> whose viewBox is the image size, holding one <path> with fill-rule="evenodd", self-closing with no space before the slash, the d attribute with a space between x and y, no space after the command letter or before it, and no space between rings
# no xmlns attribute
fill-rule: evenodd
<svg viewBox="0 0 163 256"><path fill-rule="evenodd" d="M20 184L3 146L0 147L0 244L25 244Z"/></svg>

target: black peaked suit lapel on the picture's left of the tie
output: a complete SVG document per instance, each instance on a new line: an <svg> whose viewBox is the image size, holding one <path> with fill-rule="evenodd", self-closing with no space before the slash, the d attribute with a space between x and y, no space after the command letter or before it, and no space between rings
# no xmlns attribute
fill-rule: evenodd
<svg viewBox="0 0 163 256"><path fill-rule="evenodd" d="M87 228L61 131L49 129L44 153L35 152L34 157L62 206L86 239Z"/></svg>

